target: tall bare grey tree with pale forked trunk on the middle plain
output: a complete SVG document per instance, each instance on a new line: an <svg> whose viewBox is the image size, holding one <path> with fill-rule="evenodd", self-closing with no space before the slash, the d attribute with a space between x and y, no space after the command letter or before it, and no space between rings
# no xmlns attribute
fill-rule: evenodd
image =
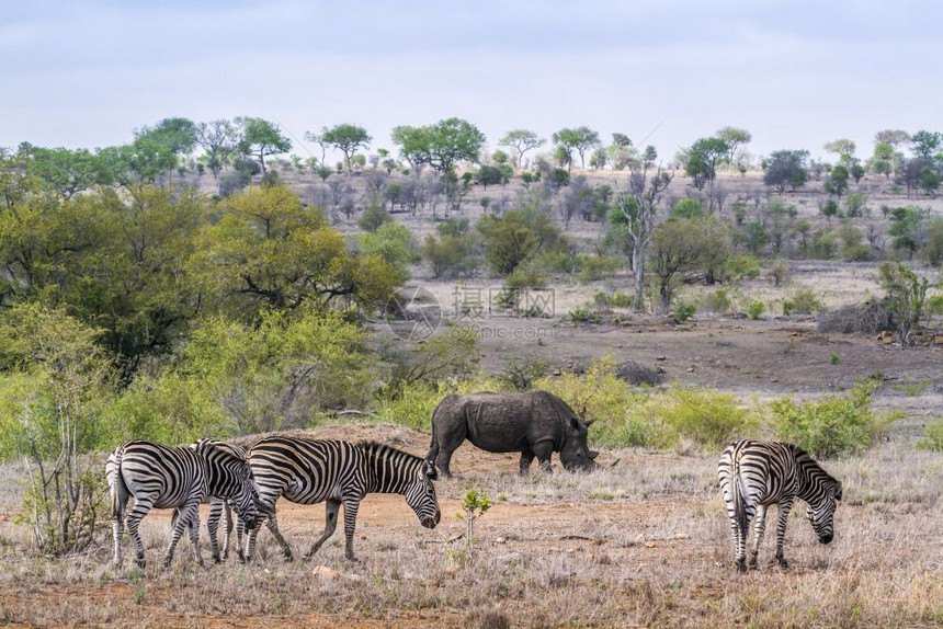
<svg viewBox="0 0 943 629"><path fill-rule="evenodd" d="M632 270L635 275L633 307L640 311L645 297L645 261L655 231L655 216L674 173L659 168L649 179L648 171L635 171L628 178L628 190L620 191L615 204L627 219L625 233L632 240Z"/></svg>

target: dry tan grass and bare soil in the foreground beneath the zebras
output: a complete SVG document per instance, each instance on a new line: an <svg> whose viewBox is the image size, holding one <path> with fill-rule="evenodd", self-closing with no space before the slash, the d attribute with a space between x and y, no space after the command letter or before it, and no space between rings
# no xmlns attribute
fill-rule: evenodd
<svg viewBox="0 0 943 629"><path fill-rule="evenodd" d="M716 490L716 454L613 454L623 458L616 468L582 476L459 470L439 483L443 523L431 531L398 496L367 502L356 539L362 563L343 559L340 534L314 561L284 563L263 533L263 560L253 565L201 569L183 542L168 572L115 572L107 539L92 554L46 560L24 551L21 531L0 549L0 622L501 628L943 621L941 455L900 439L866 457L826 461L845 485L836 541L818 545L797 508L786 540L792 569L765 564L770 535L761 569L738 575ZM469 554L454 514L471 487L495 506L476 524ZM3 494L0 510L14 511L15 500L15 492ZM286 538L300 548L321 518L320 507L288 513ZM149 557L159 557L168 531L163 516L145 521Z"/></svg>

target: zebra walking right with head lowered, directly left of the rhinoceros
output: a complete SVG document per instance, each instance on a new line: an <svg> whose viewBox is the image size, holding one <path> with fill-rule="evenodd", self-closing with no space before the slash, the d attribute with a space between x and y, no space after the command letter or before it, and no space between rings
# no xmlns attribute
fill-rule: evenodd
<svg viewBox="0 0 943 629"><path fill-rule="evenodd" d="M435 487L439 474L431 461L373 442L350 443L299 437L271 436L249 451L249 465L259 490L259 512L268 515L269 530L292 560L292 549L279 530L275 501L279 496L297 504L327 501L325 531L305 554L310 557L334 533L338 511L344 506L345 556L353 552L354 527L360 502L368 493L399 493L425 528L435 528L442 517ZM247 523L248 526L248 523ZM255 552L260 526L249 527L247 559ZM242 545L239 558L242 559Z"/></svg>

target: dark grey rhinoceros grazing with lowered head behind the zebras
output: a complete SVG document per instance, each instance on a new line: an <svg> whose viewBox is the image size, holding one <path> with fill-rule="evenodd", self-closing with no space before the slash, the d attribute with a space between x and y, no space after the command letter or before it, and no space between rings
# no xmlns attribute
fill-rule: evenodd
<svg viewBox="0 0 943 629"><path fill-rule="evenodd" d="M489 453L521 453L521 473L526 474L534 457L550 469L550 454L570 471L598 467L599 453L587 446L592 420L580 420L561 399L546 391L529 393L452 394L432 413L432 444L427 460L451 477L452 453L466 438Z"/></svg>

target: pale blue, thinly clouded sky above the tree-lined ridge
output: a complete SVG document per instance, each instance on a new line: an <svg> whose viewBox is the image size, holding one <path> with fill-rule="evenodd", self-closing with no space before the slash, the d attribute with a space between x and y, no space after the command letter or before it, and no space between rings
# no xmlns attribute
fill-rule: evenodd
<svg viewBox="0 0 943 629"><path fill-rule="evenodd" d="M589 126L663 159L725 126L753 156L943 130L934 0L0 0L0 147L96 148L183 116L305 131L457 116Z"/></svg>

